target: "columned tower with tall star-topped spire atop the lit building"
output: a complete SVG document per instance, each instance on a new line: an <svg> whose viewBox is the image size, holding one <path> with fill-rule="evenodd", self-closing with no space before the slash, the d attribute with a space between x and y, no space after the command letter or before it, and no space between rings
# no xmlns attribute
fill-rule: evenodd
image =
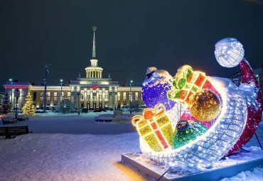
<svg viewBox="0 0 263 181"><path fill-rule="evenodd" d="M92 59L90 60L90 67L86 67L86 78L91 79L102 79L102 67L97 66L96 58L96 42L95 42L95 31L97 30L96 26L92 26L93 30L93 47L92 47Z"/></svg>

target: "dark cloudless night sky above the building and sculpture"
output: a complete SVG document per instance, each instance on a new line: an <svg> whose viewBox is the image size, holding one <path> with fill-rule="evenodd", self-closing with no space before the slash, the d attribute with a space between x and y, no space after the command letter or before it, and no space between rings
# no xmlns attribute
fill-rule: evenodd
<svg viewBox="0 0 263 181"><path fill-rule="evenodd" d="M0 84L9 78L41 84L76 79L92 57L92 26L102 77L139 86L150 66L174 76L181 65L231 77L220 67L215 43L240 40L252 68L263 65L263 1L1 0ZM0 88L1 91L4 87Z"/></svg>

